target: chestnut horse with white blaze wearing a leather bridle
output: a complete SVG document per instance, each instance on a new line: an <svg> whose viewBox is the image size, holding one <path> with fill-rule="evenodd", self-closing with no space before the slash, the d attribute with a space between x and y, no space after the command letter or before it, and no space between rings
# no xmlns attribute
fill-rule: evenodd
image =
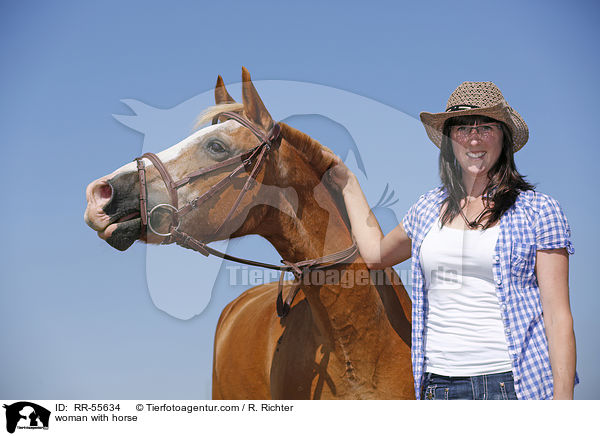
<svg viewBox="0 0 600 436"><path fill-rule="evenodd" d="M213 399L413 399L411 300L395 271L369 270L359 253L311 269L354 244L343 199L326 183L334 155L275 123L244 67L242 103L221 76L215 103L199 121L212 125L90 183L86 223L119 250L179 235L206 255L209 242L260 235L294 272L222 311Z"/></svg>

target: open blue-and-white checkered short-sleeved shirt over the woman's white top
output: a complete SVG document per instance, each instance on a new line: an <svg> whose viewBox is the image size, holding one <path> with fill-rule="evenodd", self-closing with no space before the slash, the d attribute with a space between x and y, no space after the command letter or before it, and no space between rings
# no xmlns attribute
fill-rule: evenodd
<svg viewBox="0 0 600 436"><path fill-rule="evenodd" d="M412 364L417 399L423 378L428 313L419 255L421 243L439 218L440 205L446 196L443 187L427 192L402 220L412 241ZM521 192L500 219L493 277L519 399L549 399L553 395L535 256L537 250L561 247L573 254L570 238L571 230L558 202L539 192Z"/></svg>

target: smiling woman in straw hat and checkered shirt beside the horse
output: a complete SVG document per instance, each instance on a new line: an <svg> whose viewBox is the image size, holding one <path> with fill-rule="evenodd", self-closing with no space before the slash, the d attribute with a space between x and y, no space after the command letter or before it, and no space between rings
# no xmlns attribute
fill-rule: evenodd
<svg viewBox="0 0 600 436"><path fill-rule="evenodd" d="M516 170L527 125L491 82L462 83L421 121L442 185L385 237L354 174L339 158L330 172L368 266L412 256L417 398L572 399L573 247L559 204Z"/></svg>

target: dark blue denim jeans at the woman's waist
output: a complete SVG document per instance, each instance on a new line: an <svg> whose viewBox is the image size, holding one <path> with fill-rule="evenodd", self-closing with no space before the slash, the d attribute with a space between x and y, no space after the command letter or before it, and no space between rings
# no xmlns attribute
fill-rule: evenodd
<svg viewBox="0 0 600 436"><path fill-rule="evenodd" d="M426 372L423 379L423 400L516 400L512 372L447 377Z"/></svg>

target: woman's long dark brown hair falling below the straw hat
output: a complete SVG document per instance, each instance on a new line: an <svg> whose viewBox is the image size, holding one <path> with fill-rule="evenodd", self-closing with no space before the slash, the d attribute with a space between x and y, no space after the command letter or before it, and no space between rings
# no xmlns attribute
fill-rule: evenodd
<svg viewBox="0 0 600 436"><path fill-rule="evenodd" d="M488 207L488 210L477 219L477 226L483 229L491 227L515 203L519 192L534 189L534 186L528 183L517 171L513 157L512 133L506 124L481 115L449 118L442 131L439 158L440 178L448 192L448 196L442 202L442 206L446 205L441 216L442 225L451 222L460 213L460 201L467 195L462 182L462 168L452 149L450 128L452 126L473 125L476 122L497 122L500 124L503 133L500 157L494 166L490 168L488 183L483 191L484 205Z"/></svg>

